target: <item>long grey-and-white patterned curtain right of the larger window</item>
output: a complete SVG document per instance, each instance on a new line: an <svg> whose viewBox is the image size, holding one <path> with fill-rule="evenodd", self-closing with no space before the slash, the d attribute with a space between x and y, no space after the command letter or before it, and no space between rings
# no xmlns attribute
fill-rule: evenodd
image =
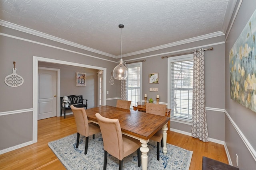
<svg viewBox="0 0 256 170"><path fill-rule="evenodd" d="M204 49L194 50L192 137L208 142L204 93Z"/></svg>

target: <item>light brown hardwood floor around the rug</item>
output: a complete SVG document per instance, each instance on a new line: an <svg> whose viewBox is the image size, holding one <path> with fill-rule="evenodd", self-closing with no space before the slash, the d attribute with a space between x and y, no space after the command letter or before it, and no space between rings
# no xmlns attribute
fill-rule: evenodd
<svg viewBox="0 0 256 170"><path fill-rule="evenodd" d="M38 142L0 155L1 170L65 170L48 142L76 133L73 115L52 117L38 121ZM168 131L167 143L193 151L190 170L202 169L202 156L206 156L228 164L223 145L202 142L188 135Z"/></svg>

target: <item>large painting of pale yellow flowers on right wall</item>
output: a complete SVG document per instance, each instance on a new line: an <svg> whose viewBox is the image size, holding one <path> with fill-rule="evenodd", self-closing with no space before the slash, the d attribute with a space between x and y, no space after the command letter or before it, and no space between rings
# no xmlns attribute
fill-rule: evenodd
<svg viewBox="0 0 256 170"><path fill-rule="evenodd" d="M229 52L230 97L256 112L256 11Z"/></svg>

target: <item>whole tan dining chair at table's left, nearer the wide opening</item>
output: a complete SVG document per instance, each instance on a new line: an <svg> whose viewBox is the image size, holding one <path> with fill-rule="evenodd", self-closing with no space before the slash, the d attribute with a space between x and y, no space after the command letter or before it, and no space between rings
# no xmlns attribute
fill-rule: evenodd
<svg viewBox="0 0 256 170"><path fill-rule="evenodd" d="M88 118L87 118L84 107L78 108L72 105L70 106L70 108L72 109L72 112L74 114L74 118L76 121L76 131L77 131L76 148L78 148L78 145L79 145L80 134L84 135L85 136L84 154L87 154L89 136L92 135L92 138L94 139L94 134L100 133L100 127L95 123L88 122Z"/></svg>

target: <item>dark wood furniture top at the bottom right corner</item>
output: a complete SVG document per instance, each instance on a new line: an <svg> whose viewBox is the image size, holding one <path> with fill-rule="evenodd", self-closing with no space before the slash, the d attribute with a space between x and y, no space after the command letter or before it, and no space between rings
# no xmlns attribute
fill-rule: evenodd
<svg viewBox="0 0 256 170"><path fill-rule="evenodd" d="M239 168L203 156L202 170L239 170Z"/></svg>

